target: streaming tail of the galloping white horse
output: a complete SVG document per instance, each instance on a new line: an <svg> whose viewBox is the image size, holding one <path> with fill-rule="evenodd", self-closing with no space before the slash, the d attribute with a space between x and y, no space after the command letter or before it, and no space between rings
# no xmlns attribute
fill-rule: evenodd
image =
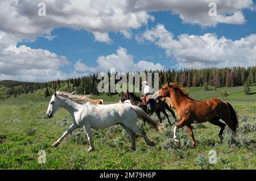
<svg viewBox="0 0 256 181"><path fill-rule="evenodd" d="M154 128L156 131L164 131L164 129L166 129L162 124L160 123L156 123L156 121L154 121L153 119L151 119L150 116L147 115L146 112L144 112L144 110L142 110L142 108L138 107L138 106L131 106L134 111L137 113L137 116L139 118L141 118L143 121L145 121L146 123L148 123L152 128Z"/></svg>

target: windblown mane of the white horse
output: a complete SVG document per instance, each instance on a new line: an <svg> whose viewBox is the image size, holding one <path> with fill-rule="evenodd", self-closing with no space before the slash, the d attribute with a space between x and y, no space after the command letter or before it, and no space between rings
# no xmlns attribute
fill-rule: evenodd
<svg viewBox="0 0 256 181"><path fill-rule="evenodd" d="M92 95L83 95L83 94L76 94L75 91L73 92L61 92L61 91L57 91L56 92L57 95L61 95L61 96L67 96L69 99L72 99L75 102L79 102L79 103L86 103L86 102L92 102L91 99L89 99L90 96Z"/></svg>

